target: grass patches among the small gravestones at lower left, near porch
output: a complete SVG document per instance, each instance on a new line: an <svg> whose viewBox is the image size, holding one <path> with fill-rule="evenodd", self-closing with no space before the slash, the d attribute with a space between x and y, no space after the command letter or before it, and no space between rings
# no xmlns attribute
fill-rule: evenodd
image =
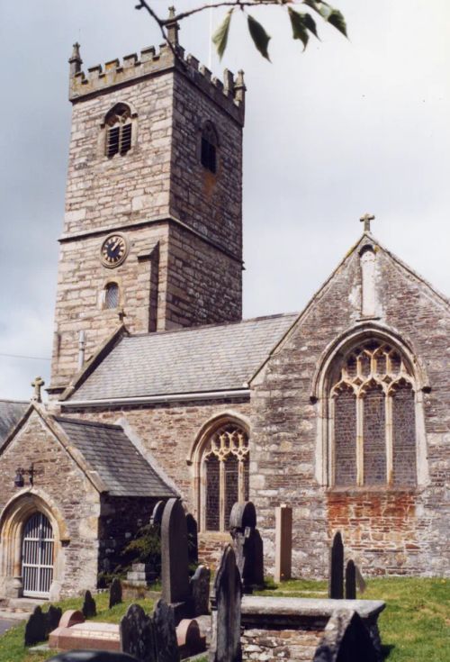
<svg viewBox="0 0 450 662"><path fill-rule="evenodd" d="M116 604L112 609L108 609L109 593L98 594L94 597L97 605L97 615L91 619L92 621L118 623L131 603L140 604L147 613L153 609L153 601L149 599L126 600L121 604ZM70 598L55 604L57 607L61 607L63 612L66 612L67 609L81 609L83 598ZM7 630L0 637L0 662L40 662L40 660L47 660L55 654L48 651L31 653L28 648L23 646L24 632L25 622L23 621L11 630Z"/></svg>

